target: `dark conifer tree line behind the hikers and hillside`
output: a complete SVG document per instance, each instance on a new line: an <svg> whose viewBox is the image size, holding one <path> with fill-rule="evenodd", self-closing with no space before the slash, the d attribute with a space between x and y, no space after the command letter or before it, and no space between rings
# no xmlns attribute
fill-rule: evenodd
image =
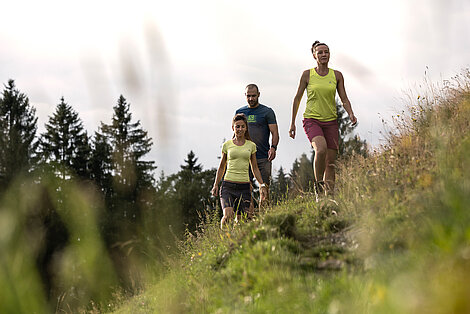
<svg viewBox="0 0 470 314"><path fill-rule="evenodd" d="M338 117L340 158L367 154L365 141L349 136L354 127L339 106ZM0 197L26 178L41 185L53 177L56 187L52 193L59 200L69 197L62 186L70 181L93 187L99 203L104 204L99 232L118 273L122 270L124 285L129 283L125 275L128 265L123 262L129 251L147 252L152 247L162 252L162 248L174 245L172 236L178 239L185 232L195 232L202 220L219 214L218 200L210 195L216 169L204 170L193 151L179 172L168 176L161 172L155 177L157 166L146 159L154 143L140 121L133 120L130 104L122 95L113 107L111 121L101 122L92 135L63 97L43 133L38 134L37 124L36 110L27 95L9 80L0 96ZM281 167L273 175L273 202L310 189L313 156L313 152L310 158L303 154L294 161L290 173ZM38 251L37 265L51 297L55 296L51 260L70 242L56 207L45 200L30 213L47 235Z"/></svg>

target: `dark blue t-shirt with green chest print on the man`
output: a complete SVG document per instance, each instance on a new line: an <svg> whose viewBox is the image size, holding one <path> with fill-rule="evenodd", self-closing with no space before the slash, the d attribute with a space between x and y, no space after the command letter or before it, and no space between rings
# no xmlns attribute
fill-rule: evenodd
<svg viewBox="0 0 470 314"><path fill-rule="evenodd" d="M269 145L269 124L277 124L274 111L262 104L256 108L248 105L238 109L235 114L244 113L248 120L248 131L251 140L256 144L256 159L268 158Z"/></svg>

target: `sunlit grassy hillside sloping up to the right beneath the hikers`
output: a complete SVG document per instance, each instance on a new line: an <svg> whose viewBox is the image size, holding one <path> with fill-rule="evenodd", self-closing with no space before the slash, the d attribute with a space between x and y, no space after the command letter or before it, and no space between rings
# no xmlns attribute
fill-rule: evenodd
<svg viewBox="0 0 470 314"><path fill-rule="evenodd" d="M189 236L116 313L470 313L470 72L410 95L388 142L304 196Z"/></svg>

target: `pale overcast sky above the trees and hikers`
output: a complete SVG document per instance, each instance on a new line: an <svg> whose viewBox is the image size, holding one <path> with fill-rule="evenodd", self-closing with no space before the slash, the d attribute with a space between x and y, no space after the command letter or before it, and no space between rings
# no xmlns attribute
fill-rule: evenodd
<svg viewBox="0 0 470 314"><path fill-rule="evenodd" d="M274 161L290 170L310 153L302 130L288 137L312 42L329 45L359 120L380 144L382 118L401 111L409 90L470 66L470 1L3 1L0 82L14 79L37 110L39 132L60 98L92 135L110 123L119 95L153 138L157 171L179 170L193 150L217 167L231 119L256 83L273 108L280 143Z"/></svg>

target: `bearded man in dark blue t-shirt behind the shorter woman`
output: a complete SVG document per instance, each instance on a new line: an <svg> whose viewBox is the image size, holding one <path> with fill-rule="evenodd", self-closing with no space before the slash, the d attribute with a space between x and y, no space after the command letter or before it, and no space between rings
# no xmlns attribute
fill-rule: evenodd
<svg viewBox="0 0 470 314"><path fill-rule="evenodd" d="M236 113L244 113L248 120L248 131L251 140L256 144L256 160L261 172L263 182L271 183L271 162L276 158L277 144L279 143L279 131L277 128L274 111L259 103L259 89L255 84L249 84L245 88L245 96L248 105L241 107ZM271 135L271 144L269 136ZM251 173L251 172L250 172Z"/></svg>

